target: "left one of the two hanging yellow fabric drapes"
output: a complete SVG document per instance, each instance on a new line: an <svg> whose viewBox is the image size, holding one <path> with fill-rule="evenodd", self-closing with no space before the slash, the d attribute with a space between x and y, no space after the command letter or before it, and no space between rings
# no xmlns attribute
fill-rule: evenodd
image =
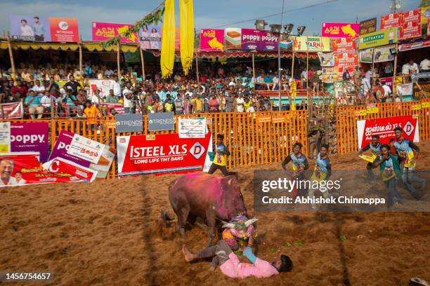
<svg viewBox="0 0 430 286"><path fill-rule="evenodd" d="M164 2L163 41L160 59L163 79L168 78L173 74L175 60L175 34L175 1L166 0Z"/></svg>

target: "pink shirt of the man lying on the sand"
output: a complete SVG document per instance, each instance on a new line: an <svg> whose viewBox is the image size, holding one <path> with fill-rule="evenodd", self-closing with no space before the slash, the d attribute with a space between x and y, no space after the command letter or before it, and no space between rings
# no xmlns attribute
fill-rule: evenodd
<svg viewBox="0 0 430 286"><path fill-rule="evenodd" d="M224 275L230 278L246 278L255 276L256 278L269 277L278 274L278 270L263 259L257 257L255 264L242 263L234 252L228 255L228 260L219 268Z"/></svg>

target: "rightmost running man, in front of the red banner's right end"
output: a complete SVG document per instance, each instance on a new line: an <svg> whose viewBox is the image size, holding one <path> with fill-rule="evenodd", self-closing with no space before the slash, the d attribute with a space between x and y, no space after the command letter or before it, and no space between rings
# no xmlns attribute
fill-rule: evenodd
<svg viewBox="0 0 430 286"><path fill-rule="evenodd" d="M415 170L415 159L419 154L419 147L410 140L403 138L402 128L394 128L394 134L396 134L396 141L393 146L396 149L398 158L400 159L401 168L403 171L402 179L406 189L410 191L414 198L419 198L417 190L412 185L412 182L421 184L421 189L424 190L425 180L414 175ZM414 154L415 153L415 154Z"/></svg>

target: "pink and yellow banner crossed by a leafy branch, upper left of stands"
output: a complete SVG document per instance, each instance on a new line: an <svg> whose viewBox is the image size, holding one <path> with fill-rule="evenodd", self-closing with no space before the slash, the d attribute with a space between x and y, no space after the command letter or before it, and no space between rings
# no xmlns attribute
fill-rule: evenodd
<svg viewBox="0 0 430 286"><path fill-rule="evenodd" d="M119 34L124 34L134 25L131 24L117 24L117 23L103 23L93 22L92 23L92 34L93 41L106 41ZM121 43L138 43L137 33L131 34L129 38L122 37Z"/></svg>

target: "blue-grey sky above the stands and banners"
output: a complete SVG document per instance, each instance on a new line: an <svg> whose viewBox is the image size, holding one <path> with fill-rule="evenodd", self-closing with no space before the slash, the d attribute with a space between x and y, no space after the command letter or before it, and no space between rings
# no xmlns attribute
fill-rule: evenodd
<svg viewBox="0 0 430 286"><path fill-rule="evenodd" d="M360 22L378 18L390 11L391 0L284 0L282 23L292 23L295 27L304 25L304 34L320 34L322 22ZM162 1L150 0L0 0L0 28L11 30L11 15L39 17L77 18L79 34L83 40L91 40L91 22L134 23L152 11ZM178 0L176 2L176 22L179 22ZM400 0L401 11L417 8L419 0ZM195 28L254 27L255 19L263 19L268 24L280 24L282 0L197 0L194 1ZM243 20L249 20L242 22ZM241 22L241 23L237 23Z"/></svg>

